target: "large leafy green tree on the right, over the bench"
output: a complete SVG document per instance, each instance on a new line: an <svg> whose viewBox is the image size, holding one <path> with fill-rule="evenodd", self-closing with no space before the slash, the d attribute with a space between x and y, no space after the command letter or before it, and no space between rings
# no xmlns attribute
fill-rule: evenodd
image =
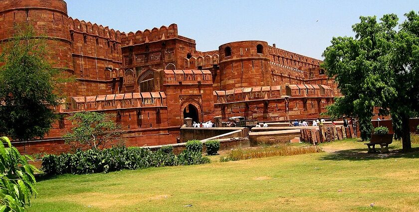
<svg viewBox="0 0 419 212"><path fill-rule="evenodd" d="M352 26L355 37L333 37L323 52L321 65L334 76L343 96L327 107L332 117L358 116L361 138L372 132L374 108L391 115L395 137L402 138L403 150L411 150L409 118L418 112L418 14L405 14L399 25L395 14L361 16ZM416 26L416 27L415 27ZM416 95L415 95L416 94Z"/></svg>

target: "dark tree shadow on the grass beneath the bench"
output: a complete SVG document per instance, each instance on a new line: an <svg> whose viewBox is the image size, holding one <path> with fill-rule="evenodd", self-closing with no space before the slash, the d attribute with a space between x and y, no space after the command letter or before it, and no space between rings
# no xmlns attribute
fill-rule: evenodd
<svg viewBox="0 0 419 212"><path fill-rule="evenodd" d="M377 148L377 153L367 153L367 148L363 149L350 149L339 150L328 155L322 156L320 160L325 161L367 161L367 160L380 160L387 158L419 158L419 147L412 148L412 152L403 153L401 149L389 147L390 153L381 154L380 148Z"/></svg>

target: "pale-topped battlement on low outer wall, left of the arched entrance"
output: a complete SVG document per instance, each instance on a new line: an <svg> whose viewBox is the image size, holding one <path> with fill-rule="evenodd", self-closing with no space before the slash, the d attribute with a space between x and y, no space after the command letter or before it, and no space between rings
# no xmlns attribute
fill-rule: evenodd
<svg viewBox="0 0 419 212"><path fill-rule="evenodd" d="M164 92L121 93L71 97L73 108L64 112L96 111L142 107L167 107Z"/></svg>

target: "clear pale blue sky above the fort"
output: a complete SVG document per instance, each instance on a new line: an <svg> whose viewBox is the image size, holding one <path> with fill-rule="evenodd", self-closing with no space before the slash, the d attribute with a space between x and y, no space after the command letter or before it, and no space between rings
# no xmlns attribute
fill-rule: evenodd
<svg viewBox="0 0 419 212"><path fill-rule="evenodd" d="M419 11L419 0L65 0L68 15L130 32L178 24L180 35L209 51L238 40L322 59L333 36L353 36L360 15Z"/></svg>

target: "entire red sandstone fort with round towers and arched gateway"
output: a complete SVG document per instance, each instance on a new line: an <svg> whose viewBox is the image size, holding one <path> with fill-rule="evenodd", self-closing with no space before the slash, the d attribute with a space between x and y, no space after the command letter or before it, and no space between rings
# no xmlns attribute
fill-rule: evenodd
<svg viewBox="0 0 419 212"><path fill-rule="evenodd" d="M321 60L265 41L235 41L198 51L178 26L120 32L67 15L64 0L1 0L0 40L15 23L46 35L51 61L76 78L65 87L61 114L113 113L128 146L176 143L184 118L202 122L243 116L259 121L317 118L338 95ZM63 118L36 150L64 151Z"/></svg>

